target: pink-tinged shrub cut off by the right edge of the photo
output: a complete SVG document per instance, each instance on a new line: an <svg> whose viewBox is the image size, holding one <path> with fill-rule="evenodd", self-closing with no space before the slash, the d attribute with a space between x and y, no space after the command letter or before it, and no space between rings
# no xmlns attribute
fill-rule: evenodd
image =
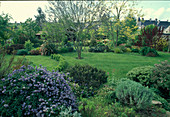
<svg viewBox="0 0 170 117"><path fill-rule="evenodd" d="M170 95L170 63L168 61L163 61L160 64L155 64L153 68L153 74L151 81L153 87L159 90L159 94L165 98L169 99Z"/></svg>

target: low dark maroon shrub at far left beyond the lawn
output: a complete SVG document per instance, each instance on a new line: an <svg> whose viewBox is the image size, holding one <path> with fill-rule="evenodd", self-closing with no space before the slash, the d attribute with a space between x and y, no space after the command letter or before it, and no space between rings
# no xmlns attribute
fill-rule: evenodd
<svg viewBox="0 0 170 117"><path fill-rule="evenodd" d="M23 44L12 44L6 47L7 54L12 54L14 50L19 50L19 49L24 49L24 45Z"/></svg>

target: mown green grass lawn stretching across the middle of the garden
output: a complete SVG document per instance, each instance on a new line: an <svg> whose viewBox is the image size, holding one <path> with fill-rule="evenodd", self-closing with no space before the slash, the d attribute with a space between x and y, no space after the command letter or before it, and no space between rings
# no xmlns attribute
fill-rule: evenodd
<svg viewBox="0 0 170 117"><path fill-rule="evenodd" d="M159 61L170 60L169 53L159 52L159 57L145 57L140 54L125 53L125 54L116 54L116 53L89 53L83 52L83 59L76 59L77 53L63 53L65 59L69 65L79 64L89 64L99 69L105 70L110 75L113 75L116 78L126 77L126 73L134 67L139 66L153 66ZM50 56L26 56L27 59L32 61L35 65L43 65L47 67L48 70L53 70L58 62L51 59Z"/></svg>

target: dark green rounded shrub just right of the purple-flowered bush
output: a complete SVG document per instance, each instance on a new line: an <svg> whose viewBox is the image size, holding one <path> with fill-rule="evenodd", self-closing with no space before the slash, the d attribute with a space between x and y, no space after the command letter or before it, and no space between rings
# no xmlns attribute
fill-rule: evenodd
<svg viewBox="0 0 170 117"><path fill-rule="evenodd" d="M84 97L93 95L96 89L107 82L105 71L89 65L77 64L66 71L70 73L72 81L78 83L81 89L83 89L82 96Z"/></svg>

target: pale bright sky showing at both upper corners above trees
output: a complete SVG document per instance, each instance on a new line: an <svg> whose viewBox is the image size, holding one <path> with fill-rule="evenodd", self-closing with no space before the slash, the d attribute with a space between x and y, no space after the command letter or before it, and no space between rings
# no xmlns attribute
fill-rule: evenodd
<svg viewBox="0 0 170 117"><path fill-rule="evenodd" d="M37 8L41 7L43 11L48 6L47 1L0 1L0 14L8 13L12 16L13 20L10 22L24 22L28 18L35 19L37 15ZM144 19L157 18L161 21L170 21L170 1L146 1L138 2L136 8L141 9L144 13Z"/></svg>

